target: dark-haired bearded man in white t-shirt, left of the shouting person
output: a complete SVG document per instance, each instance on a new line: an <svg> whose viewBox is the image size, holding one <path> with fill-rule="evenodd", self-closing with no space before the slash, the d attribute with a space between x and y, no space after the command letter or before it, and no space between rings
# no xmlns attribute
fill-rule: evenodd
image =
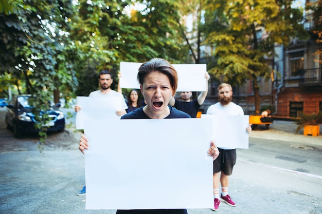
<svg viewBox="0 0 322 214"><path fill-rule="evenodd" d="M90 93L90 97L95 98L95 97L99 97L99 96L120 96L122 99L122 109L117 110L116 114L118 116L123 116L124 114L127 113L126 109L128 108L127 103L124 100L124 96L111 89L111 85L113 83L113 79L112 79L112 73L110 71L106 71L103 70L101 72L99 72L99 78L98 78L98 83L99 83L99 87L100 89L96 90L96 91L92 91ZM75 106L75 111L80 111L81 107L76 105ZM82 190L80 190L77 193L77 196L84 196L84 194L86 193L86 187L84 186Z"/></svg>

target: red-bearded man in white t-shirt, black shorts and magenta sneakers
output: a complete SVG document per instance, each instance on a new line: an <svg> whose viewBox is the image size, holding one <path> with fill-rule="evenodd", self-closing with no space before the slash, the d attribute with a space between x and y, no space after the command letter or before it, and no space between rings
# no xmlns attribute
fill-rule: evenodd
<svg viewBox="0 0 322 214"><path fill-rule="evenodd" d="M217 115L244 115L244 110L241 106L231 102L232 88L227 83L222 83L218 86L219 102L209 106L207 114ZM251 132L252 124L246 128L247 133ZM228 194L229 176L232 173L232 168L236 163L236 148L218 148L220 153L216 160L213 161L213 196L214 196L214 211L217 211L220 201L227 203L230 206L236 206ZM221 184L221 196L219 195L219 186Z"/></svg>

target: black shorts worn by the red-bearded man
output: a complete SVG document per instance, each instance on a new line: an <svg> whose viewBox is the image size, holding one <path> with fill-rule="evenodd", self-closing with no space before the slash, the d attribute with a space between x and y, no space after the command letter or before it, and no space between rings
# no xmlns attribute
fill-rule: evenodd
<svg viewBox="0 0 322 214"><path fill-rule="evenodd" d="M219 149L219 156L213 161L213 173L223 171L226 176L230 176L232 168L236 164L236 149Z"/></svg>

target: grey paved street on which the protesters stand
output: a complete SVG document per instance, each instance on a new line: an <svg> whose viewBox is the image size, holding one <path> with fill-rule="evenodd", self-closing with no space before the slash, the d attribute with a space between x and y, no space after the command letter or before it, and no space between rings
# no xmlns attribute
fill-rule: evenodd
<svg viewBox="0 0 322 214"><path fill-rule="evenodd" d="M249 149L237 151L230 180L229 194L237 205L222 203L216 213L322 214L322 135L295 134L295 128L293 122L274 121L270 130L252 131ZM85 210L85 196L76 196L85 182L79 136L73 126L49 133L40 152L37 136L13 137L0 109L0 213L114 214ZM208 208L188 212L214 213Z"/></svg>

